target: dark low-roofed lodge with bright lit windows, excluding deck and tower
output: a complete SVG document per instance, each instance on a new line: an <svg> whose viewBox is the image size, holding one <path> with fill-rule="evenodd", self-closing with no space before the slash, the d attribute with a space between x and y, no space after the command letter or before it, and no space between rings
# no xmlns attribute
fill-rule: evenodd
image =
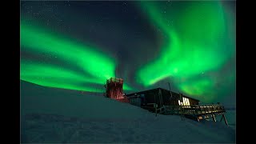
<svg viewBox="0 0 256 144"><path fill-rule="evenodd" d="M178 94L170 90L156 88L152 90L140 91L133 94L127 94L130 104L135 106L146 106L148 103L156 103L158 107L162 106L192 106L198 105L199 100L190 98L183 94Z"/></svg>

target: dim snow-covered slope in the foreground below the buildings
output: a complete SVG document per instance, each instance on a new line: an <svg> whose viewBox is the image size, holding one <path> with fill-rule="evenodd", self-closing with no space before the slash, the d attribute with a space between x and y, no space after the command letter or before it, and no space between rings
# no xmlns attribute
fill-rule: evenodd
<svg viewBox="0 0 256 144"><path fill-rule="evenodd" d="M22 142L234 143L224 122L182 121L76 91L21 85Z"/></svg>

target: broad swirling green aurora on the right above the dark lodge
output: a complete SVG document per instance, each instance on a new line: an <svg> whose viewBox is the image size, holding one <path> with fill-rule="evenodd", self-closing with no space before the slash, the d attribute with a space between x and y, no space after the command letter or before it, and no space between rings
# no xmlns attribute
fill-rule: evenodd
<svg viewBox="0 0 256 144"><path fill-rule="evenodd" d="M150 20L166 34L166 43L158 58L138 70L138 82L150 86L170 78L177 81L183 93L204 96L210 101L216 80L200 78L200 75L221 69L234 57L234 18L221 2L182 4L182 10L169 9L162 13L157 2L141 2ZM231 77L234 78L234 74Z"/></svg>

